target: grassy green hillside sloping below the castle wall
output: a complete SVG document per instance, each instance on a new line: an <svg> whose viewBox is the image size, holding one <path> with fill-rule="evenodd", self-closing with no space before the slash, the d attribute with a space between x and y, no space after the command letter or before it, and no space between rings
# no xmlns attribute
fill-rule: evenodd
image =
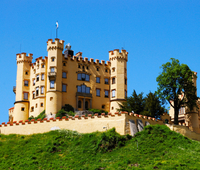
<svg viewBox="0 0 200 170"><path fill-rule="evenodd" d="M150 125L120 136L51 131L30 136L0 135L0 169L200 169L200 143Z"/></svg>

